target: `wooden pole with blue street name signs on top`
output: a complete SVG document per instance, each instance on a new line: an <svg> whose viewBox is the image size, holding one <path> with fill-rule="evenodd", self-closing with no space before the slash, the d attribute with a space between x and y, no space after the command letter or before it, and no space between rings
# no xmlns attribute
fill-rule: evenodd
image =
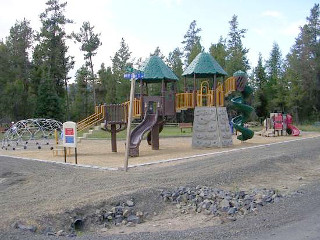
<svg viewBox="0 0 320 240"><path fill-rule="evenodd" d="M132 111L133 111L133 100L134 100L134 89L135 82L137 79L144 78L144 73L140 71L135 71L133 68L128 69L130 73L125 73L125 79L131 79L131 88L130 88L130 101L129 101L129 115L128 115L128 125L127 125L127 139L126 139L126 150L124 155L124 170L128 171L128 159L129 159L129 150L130 150L130 133L131 133L131 122L132 122Z"/></svg>

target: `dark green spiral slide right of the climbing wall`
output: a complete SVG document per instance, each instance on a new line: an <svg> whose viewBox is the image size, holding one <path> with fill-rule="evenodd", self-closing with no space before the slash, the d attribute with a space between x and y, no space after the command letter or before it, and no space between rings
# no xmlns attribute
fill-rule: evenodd
<svg viewBox="0 0 320 240"><path fill-rule="evenodd" d="M251 139L254 135L254 132L246 127L244 127L244 123L246 123L254 110L253 107L244 103L242 97L235 97L231 99L233 106L242 114L233 118L231 120L233 127L241 132L242 134L237 137L240 141L246 141Z"/></svg>

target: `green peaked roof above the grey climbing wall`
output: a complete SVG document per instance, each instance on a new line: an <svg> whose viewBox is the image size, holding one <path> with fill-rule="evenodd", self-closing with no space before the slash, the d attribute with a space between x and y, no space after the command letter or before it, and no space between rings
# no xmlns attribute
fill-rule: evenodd
<svg viewBox="0 0 320 240"><path fill-rule="evenodd" d="M184 70L182 76L193 77L212 77L228 75L219 63L209 53L199 53L190 65Z"/></svg>

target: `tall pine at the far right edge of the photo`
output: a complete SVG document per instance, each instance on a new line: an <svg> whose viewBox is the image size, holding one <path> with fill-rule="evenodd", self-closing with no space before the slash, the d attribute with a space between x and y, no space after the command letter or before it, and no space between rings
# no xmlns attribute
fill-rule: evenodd
<svg viewBox="0 0 320 240"><path fill-rule="evenodd" d="M315 4L287 56L288 105L296 120L320 119L320 9Z"/></svg>

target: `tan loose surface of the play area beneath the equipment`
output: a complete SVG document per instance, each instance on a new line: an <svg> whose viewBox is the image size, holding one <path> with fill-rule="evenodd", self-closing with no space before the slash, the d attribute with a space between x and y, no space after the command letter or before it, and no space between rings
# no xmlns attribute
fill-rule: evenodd
<svg viewBox="0 0 320 240"><path fill-rule="evenodd" d="M303 132L299 137L279 136L279 137L261 137L255 135L252 139L246 142L241 142L233 136L233 146L226 148L207 148L193 149L191 147L191 137L180 138L160 138L160 150L152 150L148 146L146 140L140 144L140 156L129 158L129 167L139 164L148 164L166 161L169 159L187 158L195 155L217 153L221 151L231 150L235 148L250 147L261 144L283 142L299 138L319 136L320 133ZM49 146L43 146L38 150L35 147L30 149L17 148L16 150L0 149L0 155L17 156L22 158L32 158L47 161L64 162L63 151L54 156L53 151ZM125 140L117 142L118 152L111 152L110 140L90 140L84 139L78 144L78 164L91 165L108 168L122 168L124 165ZM68 163L74 163L74 150L71 149L71 154L67 157Z"/></svg>

